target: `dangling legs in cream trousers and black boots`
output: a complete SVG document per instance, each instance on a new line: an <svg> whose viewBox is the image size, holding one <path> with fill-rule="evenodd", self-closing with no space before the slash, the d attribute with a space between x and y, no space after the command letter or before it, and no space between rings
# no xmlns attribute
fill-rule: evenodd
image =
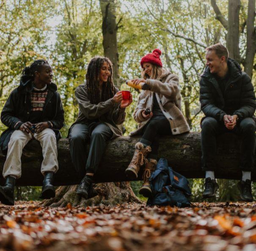
<svg viewBox="0 0 256 251"><path fill-rule="evenodd" d="M40 142L44 157L41 165L44 182L40 198L50 199L55 197L55 188L52 185L53 174L58 170L55 132L47 128L32 135L21 130L15 130L8 143L8 153L3 167L3 177L6 178L5 186L0 186L0 201L3 204L14 205L14 186L16 179L21 176L22 150L33 138Z"/></svg>

